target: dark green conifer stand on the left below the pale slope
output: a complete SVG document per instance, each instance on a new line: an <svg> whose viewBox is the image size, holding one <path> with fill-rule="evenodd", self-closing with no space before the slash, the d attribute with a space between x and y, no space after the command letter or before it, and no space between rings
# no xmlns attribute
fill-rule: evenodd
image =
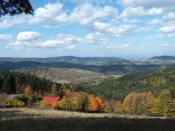
<svg viewBox="0 0 175 131"><path fill-rule="evenodd" d="M36 94L62 91L61 84L31 74L11 71L0 71L0 92L7 94L23 94L25 88L30 86ZM52 88L53 87L53 88Z"/></svg>

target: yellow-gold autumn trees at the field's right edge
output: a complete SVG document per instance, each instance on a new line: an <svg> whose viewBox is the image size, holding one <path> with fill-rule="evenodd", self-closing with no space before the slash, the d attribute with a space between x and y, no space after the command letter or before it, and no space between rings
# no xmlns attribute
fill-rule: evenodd
<svg viewBox="0 0 175 131"><path fill-rule="evenodd" d="M115 112L145 116L175 116L175 97L168 90L154 96L151 92L132 92L123 102L116 102Z"/></svg>

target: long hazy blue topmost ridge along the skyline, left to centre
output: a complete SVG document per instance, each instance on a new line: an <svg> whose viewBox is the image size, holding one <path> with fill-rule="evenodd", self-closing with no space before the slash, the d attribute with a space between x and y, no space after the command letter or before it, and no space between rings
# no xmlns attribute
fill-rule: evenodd
<svg viewBox="0 0 175 131"><path fill-rule="evenodd" d="M48 57L48 58L13 58L13 57L1 57L0 62L65 62L65 63L74 63L74 64L84 64L84 65L103 65L103 64L112 64L121 61L127 61L122 58L116 57L75 57L75 56L60 56L60 57Z"/></svg>

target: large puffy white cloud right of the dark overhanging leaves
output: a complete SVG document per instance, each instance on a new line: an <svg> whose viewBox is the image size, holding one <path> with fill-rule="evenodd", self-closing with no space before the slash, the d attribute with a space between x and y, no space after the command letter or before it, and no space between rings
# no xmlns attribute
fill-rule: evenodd
<svg viewBox="0 0 175 131"><path fill-rule="evenodd" d="M67 14L60 2L48 3L36 9L34 17L28 23L42 24L44 26L60 26L71 23L80 23L89 26L95 20L118 14L116 8L111 6L98 7L90 3L83 3Z"/></svg>

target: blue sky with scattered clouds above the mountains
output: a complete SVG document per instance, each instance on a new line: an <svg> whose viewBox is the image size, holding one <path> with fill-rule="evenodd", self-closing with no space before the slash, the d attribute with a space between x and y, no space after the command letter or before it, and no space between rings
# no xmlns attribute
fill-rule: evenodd
<svg viewBox="0 0 175 131"><path fill-rule="evenodd" d="M175 56L175 0L30 0L0 18L0 57Z"/></svg>

